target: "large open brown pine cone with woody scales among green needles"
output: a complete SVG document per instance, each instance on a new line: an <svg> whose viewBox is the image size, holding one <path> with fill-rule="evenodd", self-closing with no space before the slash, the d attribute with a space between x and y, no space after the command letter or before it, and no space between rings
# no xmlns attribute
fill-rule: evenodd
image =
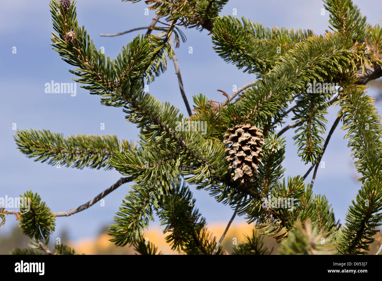
<svg viewBox="0 0 382 281"><path fill-rule="evenodd" d="M242 184L253 182L253 174L259 174L257 169L263 157L262 130L250 124L240 123L227 130L223 142L227 145L232 143L225 151L229 151L226 159L230 162L228 167L231 169L233 180L241 179Z"/></svg>

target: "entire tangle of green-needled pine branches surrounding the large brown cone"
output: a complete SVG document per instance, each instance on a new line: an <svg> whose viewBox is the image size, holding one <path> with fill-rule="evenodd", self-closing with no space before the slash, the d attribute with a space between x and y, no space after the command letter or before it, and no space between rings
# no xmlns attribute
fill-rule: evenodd
<svg viewBox="0 0 382 281"><path fill-rule="evenodd" d="M153 219L153 210L171 232L166 237L167 242L187 254L219 254L233 218L243 214L247 215L249 222L256 221L262 234L273 235L276 240L288 235L289 238L283 242L283 253L332 253L333 244L338 244L337 253L365 253L382 221L382 127L372 99L359 91L361 87L354 86L382 76L380 26L368 26L366 18L361 16L351 0L325 0L325 8L331 13L330 24L333 30L337 30L327 32L325 37L309 30L266 28L244 18L241 23L240 19L231 16L219 17L227 2L149 0L146 3L153 4L150 9L155 10L156 17L149 27L144 27L148 29L146 35L137 36L123 47L116 59L110 60L95 48L87 31L78 26L75 5L67 0L52 0L53 29L57 33L53 33L53 49L65 62L74 66L71 73L79 76L75 81L83 83L82 87L91 94L102 96L102 104L124 107L123 111L128 114L126 119L141 128L142 147L136 149L125 141L120 143L116 138L104 136L63 138L50 132L26 131L16 133L19 149L42 162L49 160L50 164L59 161L80 169L114 167L121 174L129 175L118 182L126 179L139 182L132 186L123 200L114 218L117 224L110 226L110 235L115 244L135 245L143 254L157 252L154 245L146 247L142 239L143 228L147 228ZM159 21L160 17L166 21ZM155 27L156 23L163 26ZM162 104L151 94L145 94L144 79L153 81L154 76L166 70L167 58L173 58L180 92L191 115L174 51L180 38L185 42L180 26L208 29L213 34L214 49L220 57L261 79L244 85L231 96L227 95L227 100L220 106L217 105L219 102L210 101L202 94L194 97L196 114L189 119L171 104ZM102 35L118 36L140 29L143 28ZM155 36L151 34L152 30L162 32ZM365 52L364 47L370 47L371 53ZM349 78L352 76L354 80ZM340 117L321 148L322 135L326 131L324 123L327 122L326 102L331 95L325 95L327 92L306 95L305 84L310 81L335 81L344 87L343 94L333 100L341 99L342 109L338 116L342 118L343 128L348 129L346 137L349 138L352 156L357 158L355 164L362 174L359 180L363 186L352 201L346 214L346 224L342 227L336 226L327 199L322 195L312 195L318 165ZM233 102L244 90L240 101ZM287 105L296 98L296 105L287 109ZM282 123L283 117L292 110L295 113L292 120L296 122L278 134L274 132L274 124ZM205 134L178 127L179 123L201 120L208 122ZM239 184L231 176L222 134L241 122L261 128L265 144L258 174L251 178L252 181ZM288 177L285 182L285 169L281 166L285 158L285 138L280 139L280 136L298 125L302 126L296 129L294 138L299 142L299 155L315 165L303 178ZM313 167L311 185L305 189L304 180ZM176 190L180 185L174 183L180 174L191 175L185 181L196 184L197 189L210 190L218 202L231 206L237 203L219 242L207 231L201 214L194 210L192 204L189 205L189 200L193 202L192 195L186 188L181 192ZM280 180L283 177L284 180ZM21 207L20 211L0 210L0 224L5 213L13 213L19 218L25 234L42 241L53 233L55 216L69 216L89 208L122 184L118 182L84 205L58 213L52 213L37 193L25 193L32 197L31 210ZM293 198L295 205L290 210L275 207L269 205L268 196ZM262 204L264 200L267 208ZM40 213L42 215L38 215ZM296 224L298 220L301 224ZM336 235L333 244L331 241L325 246L319 244L321 238L332 234ZM253 237L247 238L248 242L238 247L236 253L267 252L254 232ZM63 252L71 251L65 248Z"/></svg>

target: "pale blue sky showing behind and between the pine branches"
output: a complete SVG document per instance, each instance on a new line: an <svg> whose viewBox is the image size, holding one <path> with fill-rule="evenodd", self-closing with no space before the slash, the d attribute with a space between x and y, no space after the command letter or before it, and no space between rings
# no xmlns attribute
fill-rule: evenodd
<svg viewBox="0 0 382 281"><path fill-rule="evenodd" d="M369 23L374 25L379 22L382 2L353 2L361 8ZM149 11L149 16L145 16L145 8L144 1L133 4L120 0L80 0L77 14L79 24L85 25L97 48L103 46L105 54L115 58L122 45L130 42L139 31L119 37L100 37L99 34L149 25L154 12ZM264 26L312 29L316 34L324 34L325 29L329 29L329 13L325 11L324 16L320 15L323 2L319 0L233 0L225 6L222 14L232 15L234 8L237 17L248 17ZM78 133L111 134L128 140L137 140L139 131L126 122L122 109L102 106L99 96L90 95L80 89L79 84L76 96L45 93L45 83L52 80L73 82L73 75L68 71L71 66L63 62L49 45L53 31L49 1L3 2L0 23L0 197L18 197L26 190L32 190L40 194L52 211L65 211L82 205L110 187L121 175L117 171L57 169L46 163L34 162L16 149L12 124L16 123L18 129L49 129L65 136ZM223 62L212 49L211 37L207 35L209 32L184 31L187 42L181 43L176 55L190 103L192 96L198 93L215 101L223 101L224 97L217 89L231 93L233 85L239 88L254 80L253 75L242 73L235 66ZM14 46L17 48L16 54L12 53ZM193 54L188 52L190 46L193 47ZM149 92L162 102L171 102L186 114L172 61L168 62L167 72L149 85ZM369 94L374 95L375 91L370 89ZM377 107L380 109L380 104ZM337 111L338 108L330 107L329 128ZM100 130L100 123L105 124L105 130ZM346 209L360 187L344 135L340 128L333 134L322 159L325 169L319 168L314 184L314 192L327 196L333 204L336 219L341 219L342 223ZM293 130L285 136L287 146L283 166L286 167L286 175L304 174L308 166L304 166L297 156L292 140ZM308 177L310 179L311 176ZM57 218L53 237L62 229L69 230L71 239L96 236L101 226L112 223L128 190L129 184L125 184L112 192L104 198L104 207L96 204L73 216ZM192 190L196 205L208 223L229 220L233 211L228 206L217 203L206 191ZM244 221L244 218L238 217L235 221ZM14 217L7 216L0 235L8 233L15 224ZM159 224L158 219L154 224Z"/></svg>

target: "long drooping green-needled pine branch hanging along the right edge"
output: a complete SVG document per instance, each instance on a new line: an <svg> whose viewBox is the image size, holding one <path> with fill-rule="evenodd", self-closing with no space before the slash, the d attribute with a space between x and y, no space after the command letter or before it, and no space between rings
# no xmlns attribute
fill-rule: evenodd
<svg viewBox="0 0 382 281"><path fill-rule="evenodd" d="M381 117L373 99L364 93L365 86L344 87L346 96L342 99L340 112L345 138L349 139L355 166L362 174L361 189L352 200L346 213L346 223L338 233L337 253L364 254L382 220L382 151Z"/></svg>

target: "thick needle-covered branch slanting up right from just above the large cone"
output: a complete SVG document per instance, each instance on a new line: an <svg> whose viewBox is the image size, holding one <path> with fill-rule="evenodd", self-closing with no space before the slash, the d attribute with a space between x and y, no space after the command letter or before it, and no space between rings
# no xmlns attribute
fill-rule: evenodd
<svg viewBox="0 0 382 281"><path fill-rule="evenodd" d="M338 68L349 65L355 55L345 50L350 48L345 40L331 36L308 37L285 53L263 80L257 80L255 86L246 91L239 104L233 104L221 112L221 119L228 123L238 123L241 120L256 120L268 123L275 111L281 110L291 101L294 93L299 93L305 84L312 79L317 81L337 80ZM322 46L322 47L319 47ZM342 47L340 47L342 46ZM312 49L315 51L312 52ZM333 58L338 60L335 65L328 65ZM303 63L304 61L304 63ZM320 71L316 71L317 67ZM312 71L312 68L315 71ZM350 71L347 68L344 71ZM308 74L309 73L309 74ZM306 75L313 75L308 79ZM304 78L305 77L305 78ZM244 117L245 116L245 117Z"/></svg>

